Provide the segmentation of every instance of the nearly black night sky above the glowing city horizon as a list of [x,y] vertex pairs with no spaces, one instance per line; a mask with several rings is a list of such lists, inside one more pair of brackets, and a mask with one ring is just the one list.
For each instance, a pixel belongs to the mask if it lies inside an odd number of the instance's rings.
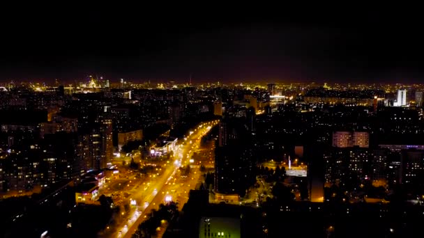
[[[165,3],[163,3],[165,4]],[[420,82],[419,9],[3,9],[0,81]]]

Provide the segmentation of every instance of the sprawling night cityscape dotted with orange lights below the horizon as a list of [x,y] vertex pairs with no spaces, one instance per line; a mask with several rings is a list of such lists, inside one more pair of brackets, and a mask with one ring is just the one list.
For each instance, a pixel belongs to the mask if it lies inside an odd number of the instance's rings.
[[[200,237],[280,235],[289,214],[322,219],[293,221],[299,237],[348,236],[349,221],[402,237],[398,228],[414,224],[388,219],[424,217],[424,85],[106,78],[1,84],[1,203],[33,207],[8,207],[11,237],[28,237],[17,228],[33,217],[40,224],[28,230],[45,230],[43,216],[76,237],[123,238],[147,234],[151,221],[151,235],[190,228],[198,214]],[[245,228],[249,211],[257,225]],[[91,224],[99,214],[103,227]]]

